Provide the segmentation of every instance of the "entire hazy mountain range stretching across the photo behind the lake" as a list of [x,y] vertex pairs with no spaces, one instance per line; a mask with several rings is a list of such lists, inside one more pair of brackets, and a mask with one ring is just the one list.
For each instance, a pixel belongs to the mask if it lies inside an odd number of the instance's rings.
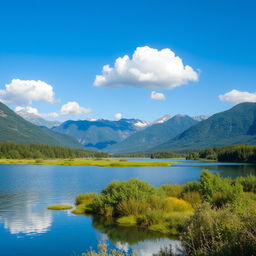
[[118,121],[68,120],[60,124],[31,114],[18,114],[0,103],[0,141],[111,153],[256,144],[256,103],[241,103],[209,118],[165,115],[154,122],[123,118]]

